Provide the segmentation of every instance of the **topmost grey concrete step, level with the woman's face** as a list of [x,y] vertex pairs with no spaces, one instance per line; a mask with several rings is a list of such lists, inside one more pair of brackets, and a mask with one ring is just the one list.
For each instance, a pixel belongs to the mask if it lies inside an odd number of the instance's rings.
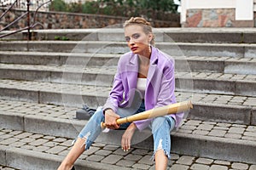
[[[117,26],[116,26],[117,27]],[[61,29],[61,30],[34,30],[35,38],[39,40],[55,40],[56,37],[65,37],[72,41],[82,39],[100,41],[124,41],[124,30],[109,26],[102,29]],[[120,27],[120,26],[119,26]],[[157,41],[166,42],[213,42],[213,43],[255,43],[253,28],[154,28]],[[1,34],[9,31],[3,31]],[[26,39],[26,31],[20,32],[5,39]]]

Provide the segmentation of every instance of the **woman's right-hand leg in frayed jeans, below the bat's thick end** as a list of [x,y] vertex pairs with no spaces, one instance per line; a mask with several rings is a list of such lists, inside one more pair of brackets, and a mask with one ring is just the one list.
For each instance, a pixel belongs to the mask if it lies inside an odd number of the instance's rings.
[[152,134],[154,138],[155,169],[166,169],[171,152],[171,135],[175,121],[171,116],[160,116],[152,122]]

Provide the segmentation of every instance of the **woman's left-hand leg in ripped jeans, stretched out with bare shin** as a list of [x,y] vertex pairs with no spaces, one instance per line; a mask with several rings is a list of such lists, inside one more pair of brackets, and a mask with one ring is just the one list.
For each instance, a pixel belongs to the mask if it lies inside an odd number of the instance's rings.
[[76,140],[66,158],[61,162],[61,166],[58,170],[69,170],[73,167],[74,162],[79,158],[84,150],[88,150],[90,148],[90,145],[102,132],[101,122],[104,122],[104,116],[102,109],[98,109],[95,114],[90,117],[90,120],[79,133],[79,138]]

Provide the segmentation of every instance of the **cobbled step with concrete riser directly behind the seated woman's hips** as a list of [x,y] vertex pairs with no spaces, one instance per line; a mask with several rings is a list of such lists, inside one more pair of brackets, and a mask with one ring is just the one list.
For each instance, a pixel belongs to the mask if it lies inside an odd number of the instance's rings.
[[[110,87],[98,86],[1,80],[0,98],[79,108],[87,104],[91,108],[97,108],[99,105],[104,105],[110,89]],[[194,109],[189,112],[189,118],[246,125],[256,124],[255,97],[178,91],[176,95],[177,101],[192,100],[194,103]]]

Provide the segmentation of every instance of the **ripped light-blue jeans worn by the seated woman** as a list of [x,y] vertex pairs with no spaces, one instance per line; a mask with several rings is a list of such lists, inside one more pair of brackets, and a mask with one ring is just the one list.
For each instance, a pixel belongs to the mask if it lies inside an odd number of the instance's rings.
[[[140,105],[137,111],[133,111],[133,114],[145,111],[144,102]],[[131,116],[132,109],[119,108],[117,111],[120,117]],[[85,150],[90,148],[90,145],[96,140],[96,138],[102,133],[101,122],[105,121],[102,108],[99,107],[90,120],[84,126],[79,133],[79,138],[84,139]],[[130,123],[120,125],[120,129],[126,129]],[[175,126],[175,121],[171,116],[160,116],[152,119],[150,124],[151,132],[154,138],[154,154],[157,150],[164,150],[166,156],[170,159],[171,155],[171,131]]]

